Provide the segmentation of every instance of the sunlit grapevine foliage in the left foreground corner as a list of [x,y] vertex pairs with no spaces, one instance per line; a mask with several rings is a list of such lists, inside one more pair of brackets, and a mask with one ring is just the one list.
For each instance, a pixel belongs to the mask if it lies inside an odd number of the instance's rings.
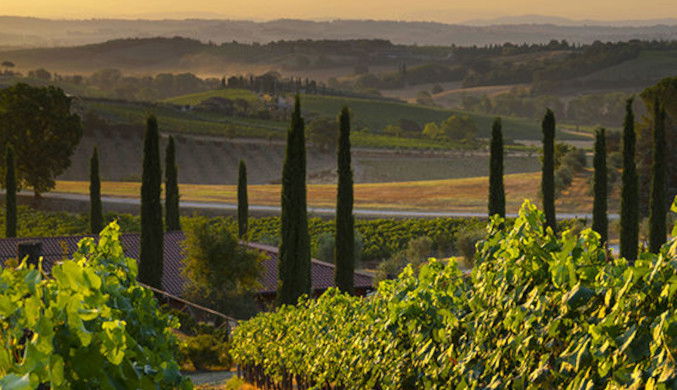
[[119,227],[72,260],[0,271],[0,388],[189,389],[175,361],[178,321],[136,281]]

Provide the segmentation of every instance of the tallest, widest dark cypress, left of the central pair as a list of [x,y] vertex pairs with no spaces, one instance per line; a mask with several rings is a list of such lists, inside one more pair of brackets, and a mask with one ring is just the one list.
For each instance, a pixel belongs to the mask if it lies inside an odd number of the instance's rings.
[[278,304],[295,304],[310,294],[310,236],[306,199],[306,146],[301,103],[296,96],[282,169],[282,242]]

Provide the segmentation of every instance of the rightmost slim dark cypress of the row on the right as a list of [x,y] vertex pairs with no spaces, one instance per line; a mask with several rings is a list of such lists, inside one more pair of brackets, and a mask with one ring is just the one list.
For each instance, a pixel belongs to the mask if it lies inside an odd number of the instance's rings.
[[658,99],[654,101],[653,165],[651,166],[651,200],[649,204],[649,250],[658,253],[665,244],[667,195],[665,109]]

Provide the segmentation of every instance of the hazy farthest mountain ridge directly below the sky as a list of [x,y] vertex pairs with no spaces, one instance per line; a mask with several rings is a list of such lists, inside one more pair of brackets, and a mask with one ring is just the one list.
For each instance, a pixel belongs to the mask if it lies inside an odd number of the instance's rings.
[[[543,23],[534,23],[539,21]],[[397,44],[443,46],[505,42],[546,43],[551,39],[566,39],[576,43],[591,43],[595,40],[677,39],[677,19],[661,19],[656,22],[660,24],[633,26],[632,21],[627,21],[613,22],[618,26],[597,25],[603,22],[595,22],[595,25],[578,25],[588,23],[540,16],[474,21],[475,25],[377,20],[280,19],[267,22],[219,19],[51,20],[0,16],[0,47],[74,46],[121,38],[174,36],[216,43],[231,41],[266,43],[297,39],[386,39]],[[484,25],[487,23],[491,25]],[[626,23],[630,25],[621,26]]]

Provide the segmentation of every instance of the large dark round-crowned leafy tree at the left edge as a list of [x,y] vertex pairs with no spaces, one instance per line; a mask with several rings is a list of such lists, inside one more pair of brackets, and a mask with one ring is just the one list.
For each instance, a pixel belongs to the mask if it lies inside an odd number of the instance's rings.
[[61,89],[20,83],[0,90],[0,145],[14,146],[19,187],[36,196],[54,188],[81,137],[80,117]]

